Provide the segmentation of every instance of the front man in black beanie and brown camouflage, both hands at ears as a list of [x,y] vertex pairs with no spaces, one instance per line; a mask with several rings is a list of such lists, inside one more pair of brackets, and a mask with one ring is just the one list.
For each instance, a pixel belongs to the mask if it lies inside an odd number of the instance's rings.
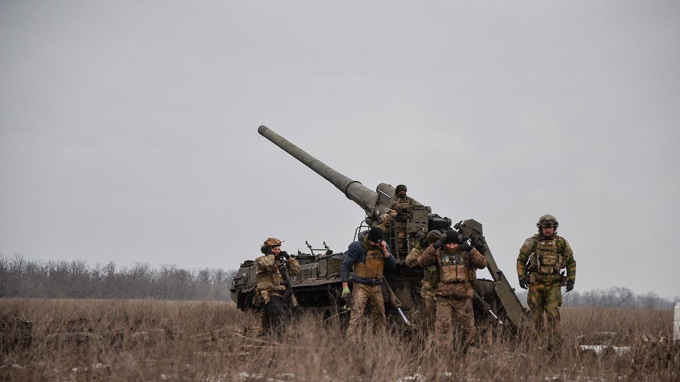
[[[450,230],[442,241],[430,245],[420,254],[418,264],[422,267],[434,265],[439,270],[439,284],[434,289],[434,332],[438,340],[443,346],[454,345],[467,351],[475,335],[472,282],[477,279],[477,269],[488,265],[486,257],[468,243],[461,242],[457,231]],[[454,320],[461,331],[456,344],[452,344]]]

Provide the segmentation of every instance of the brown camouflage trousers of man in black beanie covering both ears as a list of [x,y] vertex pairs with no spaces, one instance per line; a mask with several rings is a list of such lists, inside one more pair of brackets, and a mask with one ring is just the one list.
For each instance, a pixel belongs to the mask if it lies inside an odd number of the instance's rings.
[[434,333],[439,346],[466,349],[475,336],[473,299],[436,296]]

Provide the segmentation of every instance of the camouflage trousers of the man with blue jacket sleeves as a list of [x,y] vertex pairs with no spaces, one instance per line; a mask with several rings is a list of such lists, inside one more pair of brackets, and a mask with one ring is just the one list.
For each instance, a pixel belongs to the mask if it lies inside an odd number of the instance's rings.
[[362,331],[362,318],[364,317],[367,302],[368,306],[371,306],[373,332],[386,332],[385,305],[380,284],[353,283],[351,299],[352,311],[350,313],[350,326],[347,328],[347,338],[359,340]]

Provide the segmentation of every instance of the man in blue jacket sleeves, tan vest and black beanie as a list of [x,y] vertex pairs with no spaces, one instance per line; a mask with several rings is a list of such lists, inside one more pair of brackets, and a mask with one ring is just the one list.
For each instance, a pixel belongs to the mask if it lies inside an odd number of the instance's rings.
[[373,227],[364,236],[363,241],[350,244],[347,255],[340,266],[342,281],[342,297],[350,297],[350,270],[352,271],[352,299],[350,312],[350,326],[347,338],[357,340],[359,336],[359,322],[364,315],[366,302],[371,306],[373,315],[373,331],[386,331],[385,305],[382,298],[382,272],[384,268],[393,269],[397,265],[396,259],[389,251],[389,246],[383,240],[382,229]]

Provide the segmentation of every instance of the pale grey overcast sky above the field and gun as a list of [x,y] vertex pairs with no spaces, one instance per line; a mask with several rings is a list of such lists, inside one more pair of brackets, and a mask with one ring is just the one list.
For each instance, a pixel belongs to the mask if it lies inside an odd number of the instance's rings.
[[576,290],[680,295],[678,1],[2,1],[0,253],[238,268],[364,211],[257,133]]

